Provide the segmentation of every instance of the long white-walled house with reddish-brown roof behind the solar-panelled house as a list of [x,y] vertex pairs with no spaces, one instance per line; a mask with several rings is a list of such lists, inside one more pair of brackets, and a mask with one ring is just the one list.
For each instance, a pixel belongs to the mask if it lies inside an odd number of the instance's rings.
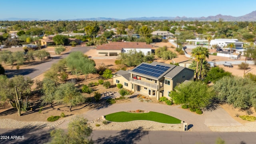
[[144,55],[151,54],[152,45],[146,42],[110,42],[96,48],[99,56],[118,56],[121,53],[128,53],[131,50],[142,52]]

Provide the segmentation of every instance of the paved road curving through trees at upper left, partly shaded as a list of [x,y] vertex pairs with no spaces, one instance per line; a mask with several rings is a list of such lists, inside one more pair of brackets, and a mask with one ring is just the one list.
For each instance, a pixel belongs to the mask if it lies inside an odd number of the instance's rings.
[[[80,52],[85,53],[85,52],[89,51],[90,49],[93,49],[93,47],[89,47],[89,46],[75,47],[75,48],[72,48],[70,50],[70,52],[80,51]],[[42,74],[46,70],[49,70],[50,67],[52,66],[52,64],[58,62],[62,58],[66,58],[70,52],[68,52],[66,54],[62,54],[60,56],[54,56],[52,58],[52,60],[47,61],[47,62],[42,62],[41,64],[38,64],[34,68],[19,70],[19,72],[17,72],[17,70],[7,70],[6,74],[8,75],[9,78],[13,77],[14,75],[23,75],[23,76],[28,76],[30,78],[34,78],[34,77]]]

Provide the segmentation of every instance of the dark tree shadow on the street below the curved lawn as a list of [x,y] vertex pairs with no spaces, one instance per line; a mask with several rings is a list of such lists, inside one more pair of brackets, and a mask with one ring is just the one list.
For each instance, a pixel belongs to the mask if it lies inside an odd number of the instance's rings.
[[108,138],[98,138],[94,140],[95,144],[136,144],[143,136],[148,135],[148,131],[143,130],[142,127],[134,130],[121,130],[115,136]]

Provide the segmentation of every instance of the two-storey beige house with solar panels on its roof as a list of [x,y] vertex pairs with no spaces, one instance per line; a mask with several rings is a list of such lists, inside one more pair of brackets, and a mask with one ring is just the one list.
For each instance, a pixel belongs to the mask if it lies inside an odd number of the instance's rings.
[[172,64],[142,62],[132,70],[119,70],[113,77],[114,84],[150,98],[169,97],[175,86],[193,80],[194,70]]

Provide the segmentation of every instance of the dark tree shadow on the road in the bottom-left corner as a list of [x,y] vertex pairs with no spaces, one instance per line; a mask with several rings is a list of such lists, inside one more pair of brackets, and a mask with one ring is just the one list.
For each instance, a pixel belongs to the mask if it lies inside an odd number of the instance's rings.
[[[1,136],[8,139],[2,139],[2,144],[44,144],[50,140],[51,129],[43,128],[41,126],[26,126],[24,128],[12,129],[7,132],[1,133]],[[2,131],[0,129],[0,131]],[[15,137],[14,137],[15,136]]]

